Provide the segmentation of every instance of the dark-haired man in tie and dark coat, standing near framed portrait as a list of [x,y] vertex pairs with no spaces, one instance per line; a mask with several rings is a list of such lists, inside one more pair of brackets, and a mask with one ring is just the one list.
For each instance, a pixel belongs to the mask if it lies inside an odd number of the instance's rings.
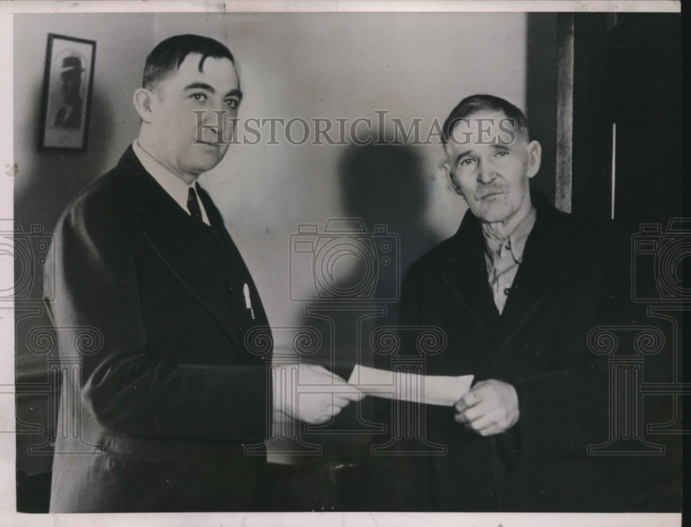
[[[62,404],[73,406],[59,423],[52,512],[265,508],[261,445],[273,412],[316,423],[357,399],[317,395],[299,410],[273,401],[283,389],[272,390],[270,356],[247,349],[247,332],[267,318],[196,183],[227,152],[225,124],[242,97],[223,44],[162,41],[134,94],[138,139],[59,219],[46,291],[55,289],[61,357],[73,360],[84,327],[102,345],[82,355],[81,379],[63,379]],[[343,382],[315,366],[299,374]]]

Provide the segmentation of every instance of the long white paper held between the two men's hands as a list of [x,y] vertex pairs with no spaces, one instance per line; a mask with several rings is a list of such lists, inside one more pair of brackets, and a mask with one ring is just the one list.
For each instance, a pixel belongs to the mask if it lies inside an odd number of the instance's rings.
[[355,365],[348,384],[363,394],[439,406],[453,406],[468,392],[473,375],[419,375]]

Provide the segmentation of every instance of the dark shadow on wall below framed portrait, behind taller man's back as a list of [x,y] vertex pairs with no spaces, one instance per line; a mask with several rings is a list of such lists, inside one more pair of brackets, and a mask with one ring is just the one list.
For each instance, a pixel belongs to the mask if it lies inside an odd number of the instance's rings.
[[[50,498],[50,470],[52,445],[55,439],[50,419],[51,400],[57,401],[59,385],[52,385],[49,375],[50,356],[54,353],[37,348],[29,343],[29,334],[37,327],[50,327],[50,319],[41,301],[44,266],[40,265],[41,245],[44,238],[50,240],[59,215],[67,204],[100,175],[108,162],[108,136],[113,126],[113,113],[108,99],[98,86],[94,86],[93,104],[89,126],[87,153],[69,151],[39,151],[37,137],[39,128],[40,86],[32,93],[35,111],[26,115],[27,133],[33,142],[33,150],[24,145],[21,151],[32,153],[32,159],[19,160],[18,178],[28,181],[15,186],[15,219],[19,221],[32,249],[31,260],[21,265],[21,258],[15,258],[15,285],[28,284],[22,288],[26,294],[17,297],[15,303],[15,371],[17,394],[17,510],[19,512],[48,512]],[[21,137],[21,135],[20,135]],[[112,148],[112,146],[111,146]],[[15,151],[19,148],[15,145]],[[26,165],[24,168],[21,165]],[[32,234],[32,227],[42,229],[41,240]],[[46,244],[47,249],[47,244]],[[44,251],[45,252],[45,251]],[[49,387],[45,390],[26,390],[21,385]],[[48,388],[46,388],[48,389]],[[19,425],[21,423],[21,426]],[[38,427],[38,428],[37,428]],[[26,433],[21,433],[26,430]],[[36,433],[35,430],[41,430]],[[29,433],[31,431],[32,433]],[[39,448],[40,454],[30,454],[30,449]]]

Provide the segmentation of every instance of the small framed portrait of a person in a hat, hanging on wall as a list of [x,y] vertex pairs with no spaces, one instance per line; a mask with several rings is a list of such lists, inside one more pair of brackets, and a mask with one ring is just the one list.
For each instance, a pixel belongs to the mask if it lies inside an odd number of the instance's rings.
[[86,151],[96,42],[48,34],[39,148]]

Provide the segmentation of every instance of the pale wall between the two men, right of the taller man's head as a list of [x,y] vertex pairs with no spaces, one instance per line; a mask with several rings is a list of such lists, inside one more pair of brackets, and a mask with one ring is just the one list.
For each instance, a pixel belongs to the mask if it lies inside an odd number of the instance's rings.
[[[180,30],[223,35],[210,15],[159,17],[156,38]],[[408,125],[441,122],[472,93],[525,103],[526,15],[229,15],[227,41],[245,99],[240,117],[348,118],[388,111]],[[491,68],[487,64],[492,64]],[[391,126],[387,120],[387,131]],[[301,128],[296,126],[295,135]],[[207,186],[225,214],[272,325],[292,325],[290,235],[300,223],[357,216],[401,235],[402,268],[458,227],[440,146],[231,146]],[[357,181],[358,184],[353,184]],[[404,230],[405,228],[405,230]],[[346,270],[343,269],[345,274]],[[311,269],[294,270],[307,284]],[[306,287],[306,286],[305,286]]]

